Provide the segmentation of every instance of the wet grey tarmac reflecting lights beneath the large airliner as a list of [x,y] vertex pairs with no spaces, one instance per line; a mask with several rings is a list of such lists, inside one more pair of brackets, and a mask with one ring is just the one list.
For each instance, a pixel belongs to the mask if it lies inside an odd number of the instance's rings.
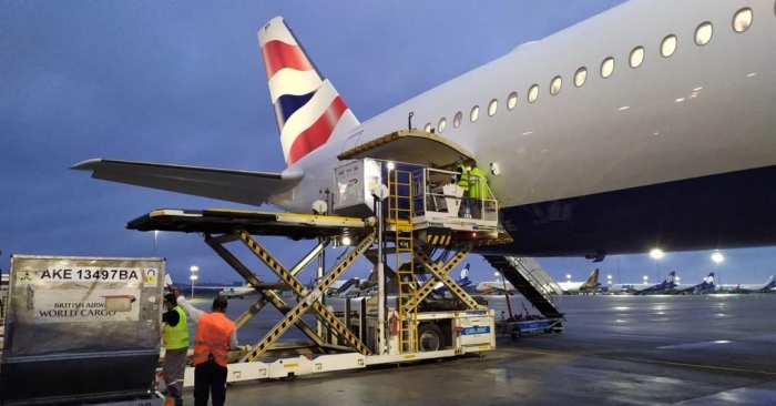
[[[508,316],[502,296],[488,301]],[[522,308],[521,296],[510,302]],[[228,314],[251,303],[232,300]],[[229,384],[226,404],[776,405],[774,294],[564,296],[560,307],[561,334],[499,336],[481,356]],[[264,327],[251,328],[241,344],[261,338]]]

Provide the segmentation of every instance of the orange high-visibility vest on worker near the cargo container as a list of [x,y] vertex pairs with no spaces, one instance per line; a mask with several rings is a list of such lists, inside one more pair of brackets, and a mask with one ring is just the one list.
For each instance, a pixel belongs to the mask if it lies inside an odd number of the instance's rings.
[[206,362],[212,354],[216,364],[226,367],[229,336],[234,328],[234,323],[223,313],[202,314],[194,336],[194,365]]

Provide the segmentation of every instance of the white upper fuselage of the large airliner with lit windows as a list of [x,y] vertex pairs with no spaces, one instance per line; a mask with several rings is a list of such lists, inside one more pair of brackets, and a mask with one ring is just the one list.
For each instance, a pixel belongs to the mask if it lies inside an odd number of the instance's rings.
[[[755,13],[752,27],[734,32],[742,7]],[[709,43],[694,42],[696,27],[713,23]],[[661,41],[677,37],[677,49],[661,55]],[[503,207],[591,195],[675,180],[776,164],[776,74],[773,2],[634,0],[524,47],[422,93],[339,136],[289,170],[305,179],[269,202],[307,212],[319,190],[333,184],[336,155],[402,129],[427,123],[469,150],[500,174],[490,185]],[[629,65],[636,47],[645,50]],[[601,65],[614,58],[604,79]],[[582,87],[574,72],[588,69]],[[550,94],[559,75],[562,87]],[[529,89],[538,99],[529,103]],[[518,93],[508,109],[508,95]],[[488,114],[491,100],[498,108]],[[479,118],[470,121],[478,105]],[[462,113],[459,128],[453,116]],[[440,119],[447,126],[439,131]]]

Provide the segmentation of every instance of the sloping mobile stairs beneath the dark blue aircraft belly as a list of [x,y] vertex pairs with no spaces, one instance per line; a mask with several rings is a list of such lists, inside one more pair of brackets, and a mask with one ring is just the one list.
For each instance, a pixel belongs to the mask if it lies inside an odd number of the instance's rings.
[[553,293],[560,297],[561,287],[539,263],[530,257],[484,255],[484,258],[525,297],[533,307],[549,318],[563,317]]

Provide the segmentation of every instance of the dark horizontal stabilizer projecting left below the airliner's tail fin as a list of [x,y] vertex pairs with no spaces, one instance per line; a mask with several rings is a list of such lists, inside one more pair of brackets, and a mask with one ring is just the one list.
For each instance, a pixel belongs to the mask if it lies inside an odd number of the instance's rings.
[[252,205],[294,187],[304,176],[300,171],[252,172],[102,159],[71,169],[92,171],[94,179]]

